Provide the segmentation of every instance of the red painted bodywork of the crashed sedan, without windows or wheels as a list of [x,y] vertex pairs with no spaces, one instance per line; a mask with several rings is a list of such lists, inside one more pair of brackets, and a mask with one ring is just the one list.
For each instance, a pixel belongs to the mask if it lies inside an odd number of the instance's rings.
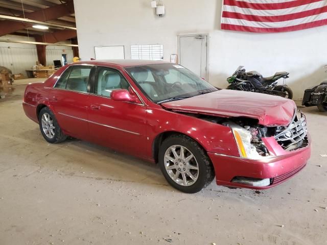
[[[293,176],[310,157],[309,145],[287,152],[271,138],[263,138],[272,157],[263,160],[241,158],[229,127],[178,112],[192,112],[221,117],[251,117],[264,126],[290,124],[296,106],[281,97],[250,92],[219,90],[189,99],[158,105],[148,100],[124,67],[158,64],[149,61],[78,62],[60,68],[44,83],[27,86],[23,108],[38,122],[40,106],[48,106],[67,135],[95,142],[109,148],[155,162],[154,146],[160,135],[176,132],[196,140],[211,158],[219,185],[249,186],[232,183],[232,178],[275,178],[269,188]],[[137,95],[137,103],[114,101],[92,93],[54,88],[62,72],[71,65],[105,66],[119,70]],[[258,106],[260,100],[260,106]],[[141,102],[141,103],[139,103]]]

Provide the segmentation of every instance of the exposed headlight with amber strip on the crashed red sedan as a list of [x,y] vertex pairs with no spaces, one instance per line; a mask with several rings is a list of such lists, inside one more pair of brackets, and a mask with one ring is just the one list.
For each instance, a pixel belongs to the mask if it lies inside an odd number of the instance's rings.
[[249,159],[262,159],[256,151],[255,146],[251,144],[252,135],[249,131],[242,128],[231,128],[237,146],[239,148],[240,156]]

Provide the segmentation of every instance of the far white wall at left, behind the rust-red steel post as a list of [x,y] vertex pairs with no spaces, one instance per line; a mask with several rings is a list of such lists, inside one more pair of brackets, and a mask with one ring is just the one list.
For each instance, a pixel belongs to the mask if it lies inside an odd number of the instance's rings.
[[[33,37],[6,35],[0,39],[35,41]],[[61,44],[70,44],[70,41],[58,42]],[[57,43],[57,44],[58,44]],[[64,50],[64,51],[63,51]],[[61,55],[67,54],[68,63],[73,62],[73,49],[70,46],[48,45],[45,49],[46,64],[53,65],[54,60],[61,60]],[[13,72],[13,74],[26,74],[26,70],[32,69],[36,64],[37,52],[35,44],[0,42],[0,66],[5,66]]]

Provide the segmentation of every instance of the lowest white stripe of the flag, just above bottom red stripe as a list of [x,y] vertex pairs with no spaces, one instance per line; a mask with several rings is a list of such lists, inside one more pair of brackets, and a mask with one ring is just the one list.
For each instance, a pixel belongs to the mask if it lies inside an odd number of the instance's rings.
[[247,27],[258,27],[258,28],[283,28],[283,27],[291,27],[296,26],[302,23],[310,23],[317,20],[327,19],[327,13],[322,13],[318,15],[311,15],[308,17],[293,19],[281,22],[257,22],[257,21],[249,21],[244,19],[232,19],[232,18],[222,18],[222,23],[226,24],[236,24]]

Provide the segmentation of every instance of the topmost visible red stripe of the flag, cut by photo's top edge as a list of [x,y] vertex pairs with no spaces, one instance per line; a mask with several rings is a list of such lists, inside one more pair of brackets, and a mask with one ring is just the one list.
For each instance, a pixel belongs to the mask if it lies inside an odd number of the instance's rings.
[[324,0],[295,0],[285,3],[272,3],[272,4],[257,4],[257,3],[249,3],[244,1],[236,1],[236,0],[224,0],[224,5],[229,6],[237,6],[240,8],[248,8],[255,10],[273,10],[273,9],[288,9],[299,7],[306,4],[322,2]]

